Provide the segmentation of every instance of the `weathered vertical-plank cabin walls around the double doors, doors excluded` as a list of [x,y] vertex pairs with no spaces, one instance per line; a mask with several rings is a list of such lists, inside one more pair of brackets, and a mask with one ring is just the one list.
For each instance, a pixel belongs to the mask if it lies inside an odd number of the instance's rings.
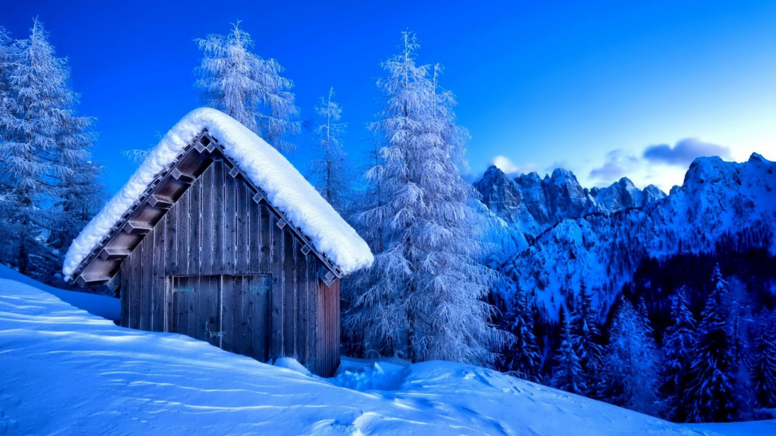
[[[251,197],[223,161],[213,161],[122,262],[121,325],[171,331],[171,276],[270,274],[271,358],[293,357],[312,372],[330,375],[339,362],[339,285],[320,288],[320,261],[302,254],[288,228],[280,229],[274,213]],[[224,321],[241,322],[231,317],[222,313]],[[317,359],[322,347],[325,369]]]

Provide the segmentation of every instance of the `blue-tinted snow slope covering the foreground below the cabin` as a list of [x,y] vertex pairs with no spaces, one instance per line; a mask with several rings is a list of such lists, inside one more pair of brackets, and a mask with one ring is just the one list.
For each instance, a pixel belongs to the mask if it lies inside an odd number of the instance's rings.
[[348,359],[333,379],[319,379],[178,334],[117,327],[9,279],[0,279],[0,356],[0,434],[710,436],[774,428],[670,424],[449,362]]

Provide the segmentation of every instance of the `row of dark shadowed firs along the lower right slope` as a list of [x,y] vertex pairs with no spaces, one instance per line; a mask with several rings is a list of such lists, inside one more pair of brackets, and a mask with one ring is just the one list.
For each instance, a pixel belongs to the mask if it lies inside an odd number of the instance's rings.
[[708,282],[712,290],[697,319],[691,290],[675,293],[662,347],[645,300],[634,305],[625,296],[605,341],[583,282],[575,309],[561,313],[549,372],[542,369],[527,292],[516,289],[504,324],[516,341],[504,348],[501,369],[677,422],[751,420],[757,409],[776,407],[776,312],[752,316],[719,265]]

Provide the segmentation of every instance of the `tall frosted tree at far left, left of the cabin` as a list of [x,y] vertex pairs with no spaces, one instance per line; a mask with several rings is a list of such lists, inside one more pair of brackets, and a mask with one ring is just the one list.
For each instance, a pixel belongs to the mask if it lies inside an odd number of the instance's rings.
[[0,112],[3,257],[19,272],[50,281],[64,248],[99,204],[99,167],[88,153],[93,119],[75,115],[70,71],[38,20],[8,59]]

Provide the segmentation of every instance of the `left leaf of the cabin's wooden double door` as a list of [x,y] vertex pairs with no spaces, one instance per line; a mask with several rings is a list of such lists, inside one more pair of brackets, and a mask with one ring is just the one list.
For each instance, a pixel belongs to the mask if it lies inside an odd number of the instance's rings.
[[172,276],[170,331],[220,346],[219,275]]

